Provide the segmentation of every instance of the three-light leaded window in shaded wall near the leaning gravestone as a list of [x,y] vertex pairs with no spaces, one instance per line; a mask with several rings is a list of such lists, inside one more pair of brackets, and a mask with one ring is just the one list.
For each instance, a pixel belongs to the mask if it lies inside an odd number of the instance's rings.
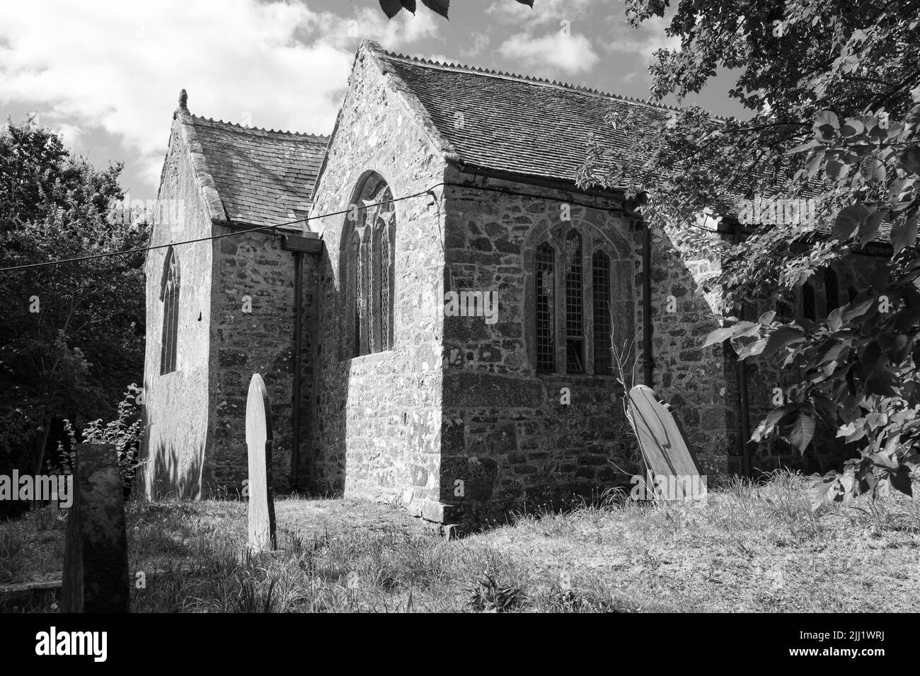
[[620,256],[606,236],[575,228],[536,246],[537,372],[613,375],[613,344],[632,349],[634,263]]

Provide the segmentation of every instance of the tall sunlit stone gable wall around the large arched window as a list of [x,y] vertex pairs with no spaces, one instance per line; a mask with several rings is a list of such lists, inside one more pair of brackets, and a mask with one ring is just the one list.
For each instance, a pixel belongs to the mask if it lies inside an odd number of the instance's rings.
[[[367,172],[394,197],[443,181],[443,157],[418,111],[367,51],[359,52],[339,113],[313,213],[347,210]],[[401,502],[442,521],[441,450],[443,205],[422,195],[397,201],[393,349],[340,359],[344,297],[339,249],[345,215],[311,224],[326,244],[319,271],[319,358],[312,487]]]

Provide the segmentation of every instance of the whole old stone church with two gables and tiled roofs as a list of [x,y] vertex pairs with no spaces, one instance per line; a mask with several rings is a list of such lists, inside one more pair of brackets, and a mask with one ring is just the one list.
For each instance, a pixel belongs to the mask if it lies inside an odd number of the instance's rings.
[[[371,41],[328,137],[198,117],[183,92],[158,194],[178,218],[146,260],[147,496],[237,494],[256,372],[280,492],[440,523],[599,496],[640,467],[612,344],[704,473],[785,462],[742,443],[756,378],[701,348],[719,258],[575,185],[589,133],[623,147],[603,120],[629,111],[673,109]],[[847,275],[799,310],[845,302]]]

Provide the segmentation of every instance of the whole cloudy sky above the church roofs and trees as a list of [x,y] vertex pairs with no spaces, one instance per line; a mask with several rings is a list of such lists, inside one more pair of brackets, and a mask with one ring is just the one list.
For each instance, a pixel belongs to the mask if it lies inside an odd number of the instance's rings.
[[[328,133],[362,38],[632,97],[648,97],[651,53],[676,46],[662,21],[630,29],[622,0],[454,0],[449,22],[421,3],[387,21],[376,0],[5,3],[0,119],[37,112],[96,165],[123,161],[132,199],[155,196],[183,87],[197,115]],[[738,114],[729,86],[687,102]]]

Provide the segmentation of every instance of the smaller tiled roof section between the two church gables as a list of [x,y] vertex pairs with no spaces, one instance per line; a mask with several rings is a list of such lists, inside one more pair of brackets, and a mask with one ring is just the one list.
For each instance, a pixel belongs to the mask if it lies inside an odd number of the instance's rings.
[[241,127],[197,115],[187,119],[230,220],[274,225],[309,210],[328,136]]

